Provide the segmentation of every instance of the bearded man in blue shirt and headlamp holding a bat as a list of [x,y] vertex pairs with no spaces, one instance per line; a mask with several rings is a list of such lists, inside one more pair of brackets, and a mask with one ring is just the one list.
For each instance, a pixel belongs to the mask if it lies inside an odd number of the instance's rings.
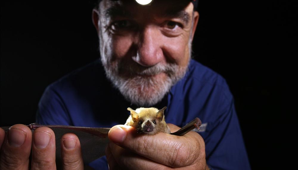
[[[106,157],[89,164],[94,169],[250,169],[226,81],[191,59],[196,6],[190,0],[155,0],[150,5],[100,1],[92,13],[100,59],[49,85],[38,105],[37,122],[113,126]],[[202,120],[201,130],[182,137],[136,137],[134,128],[121,125],[130,114],[128,107],[164,106],[171,132],[195,117]],[[23,125],[10,129],[1,169],[28,167],[30,133]],[[32,168],[56,167],[53,136],[49,128],[35,130]],[[77,136],[67,134],[62,141],[63,168],[83,169]]]

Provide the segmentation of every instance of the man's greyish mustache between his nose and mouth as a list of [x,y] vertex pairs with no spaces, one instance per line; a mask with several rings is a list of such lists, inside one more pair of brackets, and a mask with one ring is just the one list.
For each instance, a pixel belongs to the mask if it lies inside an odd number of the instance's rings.
[[177,64],[172,63],[158,63],[154,66],[145,67],[134,61],[120,61],[118,63],[118,72],[129,75],[156,75],[160,72],[170,74],[175,73],[178,67]]

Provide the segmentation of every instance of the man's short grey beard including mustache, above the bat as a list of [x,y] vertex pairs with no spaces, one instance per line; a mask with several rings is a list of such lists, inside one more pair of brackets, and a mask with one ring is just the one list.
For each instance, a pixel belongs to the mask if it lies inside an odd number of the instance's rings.
[[[114,61],[108,64],[102,59],[107,78],[126,100],[138,106],[152,106],[162,100],[171,87],[184,77],[187,66],[156,64],[143,67],[134,61]],[[153,75],[165,73],[165,78]]]

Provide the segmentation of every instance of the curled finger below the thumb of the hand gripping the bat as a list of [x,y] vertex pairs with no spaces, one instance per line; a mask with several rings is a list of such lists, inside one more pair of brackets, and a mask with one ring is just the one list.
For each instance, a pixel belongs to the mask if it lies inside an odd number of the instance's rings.
[[[120,146],[110,143],[109,144],[110,155],[107,157],[109,165],[114,168],[114,164],[121,169],[167,169],[169,167],[160,163],[154,162],[148,158],[142,157],[138,154],[130,152]],[[117,169],[117,168],[116,168]]]

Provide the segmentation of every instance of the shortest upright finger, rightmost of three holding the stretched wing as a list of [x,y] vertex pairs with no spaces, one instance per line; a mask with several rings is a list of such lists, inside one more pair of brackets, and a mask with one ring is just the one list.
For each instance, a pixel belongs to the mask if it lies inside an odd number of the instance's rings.
[[75,134],[61,137],[61,156],[63,169],[84,169],[80,140]]

